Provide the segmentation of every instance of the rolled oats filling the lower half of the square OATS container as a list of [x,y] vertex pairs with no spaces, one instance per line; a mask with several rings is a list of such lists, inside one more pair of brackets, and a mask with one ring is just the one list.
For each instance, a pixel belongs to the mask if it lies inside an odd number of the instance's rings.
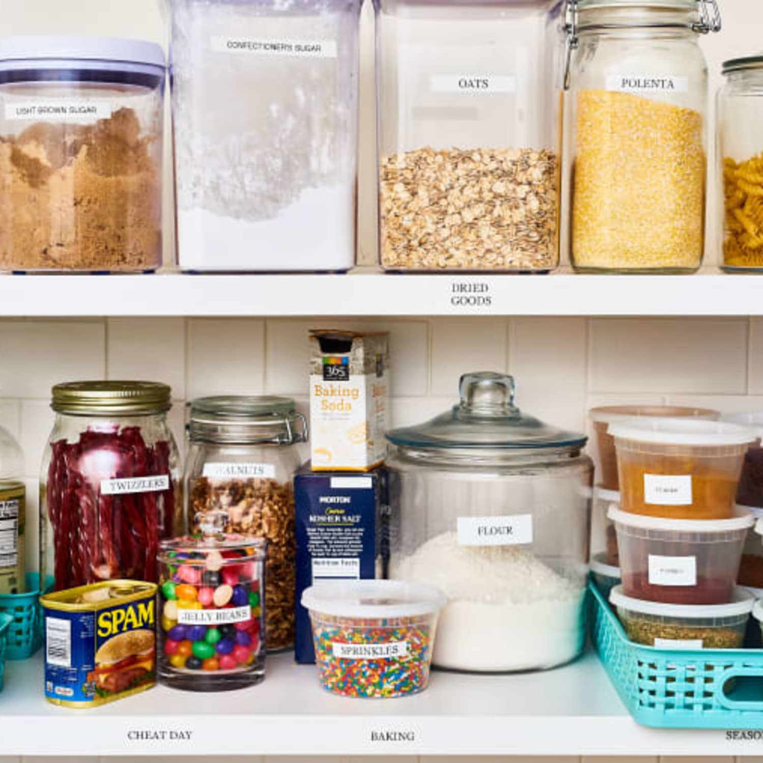
[[533,271],[559,262],[559,159],[551,151],[385,155],[379,201],[386,268]]

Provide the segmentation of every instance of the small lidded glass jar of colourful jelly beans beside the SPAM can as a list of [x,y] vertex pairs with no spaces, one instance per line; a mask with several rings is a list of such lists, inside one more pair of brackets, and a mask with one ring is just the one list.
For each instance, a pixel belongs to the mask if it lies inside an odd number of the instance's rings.
[[168,686],[227,691],[265,678],[266,542],[222,533],[226,521],[208,517],[201,536],[162,543],[159,681]]

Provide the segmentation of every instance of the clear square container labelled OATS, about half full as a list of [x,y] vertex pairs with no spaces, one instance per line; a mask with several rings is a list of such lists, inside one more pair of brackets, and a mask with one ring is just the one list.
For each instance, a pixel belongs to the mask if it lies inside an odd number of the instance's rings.
[[561,8],[375,0],[385,269],[559,264]]

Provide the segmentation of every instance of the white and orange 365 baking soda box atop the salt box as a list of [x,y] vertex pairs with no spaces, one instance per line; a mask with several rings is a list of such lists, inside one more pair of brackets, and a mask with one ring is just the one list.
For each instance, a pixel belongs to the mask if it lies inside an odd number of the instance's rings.
[[310,342],[312,468],[369,471],[385,458],[389,335],[318,330]]

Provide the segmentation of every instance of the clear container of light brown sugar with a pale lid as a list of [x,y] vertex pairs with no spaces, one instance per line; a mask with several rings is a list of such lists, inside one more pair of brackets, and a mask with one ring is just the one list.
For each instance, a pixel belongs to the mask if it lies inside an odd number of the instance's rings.
[[0,39],[0,270],[161,266],[165,71],[141,40]]

